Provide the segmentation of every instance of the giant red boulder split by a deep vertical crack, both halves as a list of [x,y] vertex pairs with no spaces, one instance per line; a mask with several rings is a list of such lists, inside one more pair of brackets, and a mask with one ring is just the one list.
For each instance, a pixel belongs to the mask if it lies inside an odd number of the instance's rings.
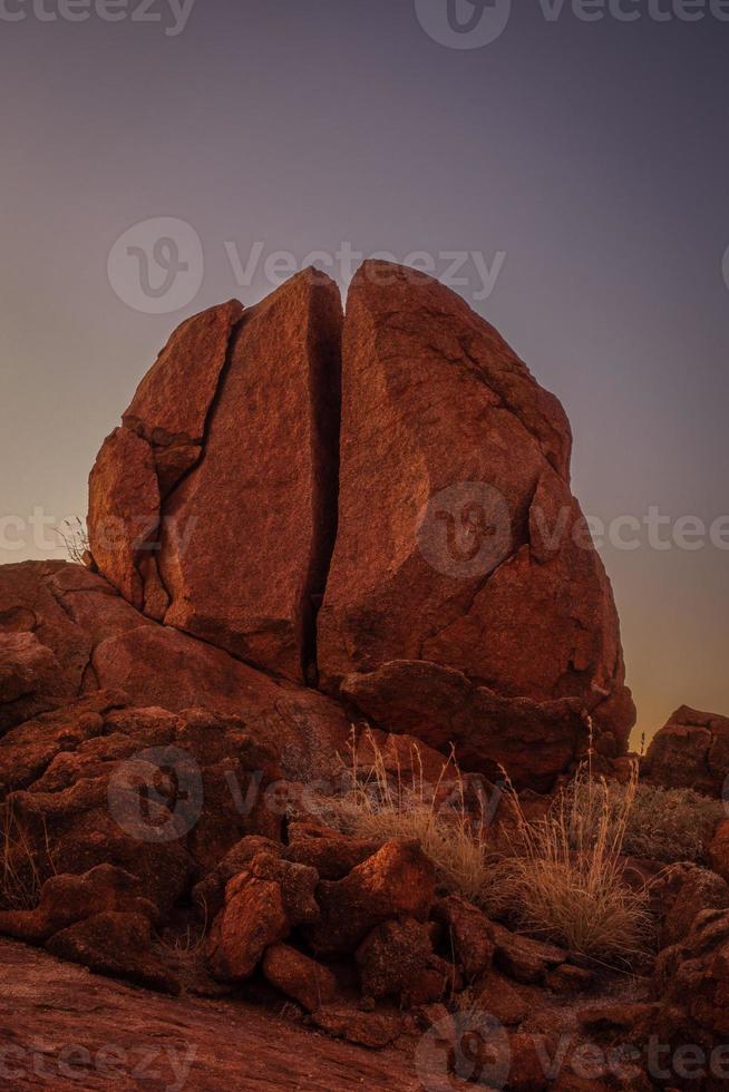
[[235,674],[319,686],[519,786],[566,772],[590,718],[605,759],[625,752],[634,708],[564,410],[438,282],[368,262],[343,325],[313,270],[213,308],[123,421],[91,474],[91,552],[165,630],[96,647],[105,685],[138,671],[152,699],[174,627]]

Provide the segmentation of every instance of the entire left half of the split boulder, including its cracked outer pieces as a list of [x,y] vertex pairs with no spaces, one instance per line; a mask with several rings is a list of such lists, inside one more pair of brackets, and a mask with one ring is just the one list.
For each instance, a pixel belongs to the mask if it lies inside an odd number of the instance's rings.
[[188,319],[89,479],[90,549],[125,598],[294,682],[337,529],[341,329],[315,270]]

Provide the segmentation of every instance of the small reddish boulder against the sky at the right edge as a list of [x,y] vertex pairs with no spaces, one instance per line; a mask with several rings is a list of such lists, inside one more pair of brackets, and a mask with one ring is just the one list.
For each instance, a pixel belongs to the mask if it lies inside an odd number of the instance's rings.
[[653,737],[641,776],[667,789],[720,798],[729,777],[729,718],[682,705]]

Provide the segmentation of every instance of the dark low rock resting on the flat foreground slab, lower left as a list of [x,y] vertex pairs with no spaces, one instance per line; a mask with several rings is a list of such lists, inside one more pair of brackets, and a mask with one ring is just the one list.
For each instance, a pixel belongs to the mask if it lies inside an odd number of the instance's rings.
[[179,983],[152,952],[149,920],[143,915],[96,914],[57,933],[46,947],[99,974],[129,978],[162,993],[179,993]]

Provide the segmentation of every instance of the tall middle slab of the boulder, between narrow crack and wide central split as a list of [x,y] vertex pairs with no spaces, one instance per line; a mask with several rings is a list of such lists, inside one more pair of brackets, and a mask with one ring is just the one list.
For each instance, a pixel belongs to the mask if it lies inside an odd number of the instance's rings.
[[307,271],[247,311],[204,455],[165,505],[165,621],[302,681],[336,526],[341,301]]

